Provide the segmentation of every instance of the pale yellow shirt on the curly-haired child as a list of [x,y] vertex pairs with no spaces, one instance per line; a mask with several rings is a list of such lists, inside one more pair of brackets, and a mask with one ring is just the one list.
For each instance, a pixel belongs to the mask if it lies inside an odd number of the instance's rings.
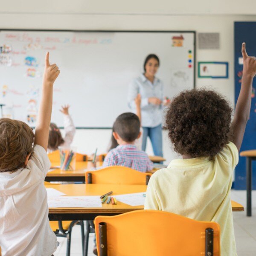
[[198,221],[215,221],[221,227],[221,256],[236,255],[230,200],[232,173],[239,154],[232,142],[214,160],[172,160],[151,176],[144,209],[173,212]]

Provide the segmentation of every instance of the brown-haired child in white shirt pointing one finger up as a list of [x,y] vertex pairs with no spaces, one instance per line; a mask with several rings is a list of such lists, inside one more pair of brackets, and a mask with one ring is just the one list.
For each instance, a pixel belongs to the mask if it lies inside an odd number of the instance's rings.
[[52,88],[59,73],[47,52],[35,135],[24,122],[0,119],[0,246],[5,256],[51,256],[57,248],[44,178],[50,167]]

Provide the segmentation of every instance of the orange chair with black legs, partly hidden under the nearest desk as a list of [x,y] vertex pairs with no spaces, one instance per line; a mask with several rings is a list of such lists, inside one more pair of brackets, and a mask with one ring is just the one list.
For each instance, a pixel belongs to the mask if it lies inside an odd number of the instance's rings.
[[[49,183],[44,181],[44,185],[54,185],[58,183]],[[56,236],[67,238],[67,250],[66,256],[70,256],[70,246],[71,246],[71,234],[72,229],[75,225],[81,226],[81,240],[82,240],[82,250],[84,251],[84,221],[50,221],[50,227]],[[1,256],[1,255],[0,255]]]

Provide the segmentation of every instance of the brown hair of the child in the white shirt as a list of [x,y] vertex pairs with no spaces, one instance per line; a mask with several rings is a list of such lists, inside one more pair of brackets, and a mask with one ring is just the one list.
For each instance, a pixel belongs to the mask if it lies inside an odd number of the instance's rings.
[[0,172],[25,167],[27,155],[33,152],[34,137],[26,123],[0,118]]

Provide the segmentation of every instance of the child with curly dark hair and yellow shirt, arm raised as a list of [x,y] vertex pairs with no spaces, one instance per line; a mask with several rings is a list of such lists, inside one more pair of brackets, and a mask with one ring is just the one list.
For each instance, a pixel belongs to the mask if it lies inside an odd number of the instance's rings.
[[231,123],[232,108],[212,90],[188,90],[172,100],[166,128],[174,150],[183,159],[151,176],[145,209],[173,212],[221,226],[221,255],[236,255],[230,200],[232,173],[250,114],[255,57],[242,44],[241,91]]

